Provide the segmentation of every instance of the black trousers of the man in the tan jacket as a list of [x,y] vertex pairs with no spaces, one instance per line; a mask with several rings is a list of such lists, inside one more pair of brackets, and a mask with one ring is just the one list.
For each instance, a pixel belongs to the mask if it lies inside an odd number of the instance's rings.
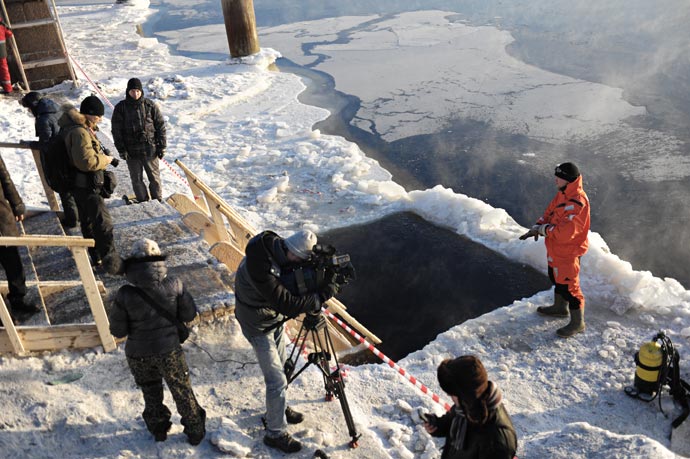
[[75,188],[72,194],[79,210],[82,236],[96,241],[95,250],[89,249],[91,259],[96,262],[114,254],[113,220],[101,195],[88,188]]

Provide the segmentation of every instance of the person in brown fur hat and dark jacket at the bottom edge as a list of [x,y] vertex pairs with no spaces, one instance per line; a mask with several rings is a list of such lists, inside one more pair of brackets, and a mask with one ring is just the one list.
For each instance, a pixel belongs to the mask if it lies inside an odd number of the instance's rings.
[[473,355],[446,359],[437,376],[454,405],[441,417],[422,414],[422,419],[429,434],[446,437],[441,459],[513,459],[517,434],[481,360]]

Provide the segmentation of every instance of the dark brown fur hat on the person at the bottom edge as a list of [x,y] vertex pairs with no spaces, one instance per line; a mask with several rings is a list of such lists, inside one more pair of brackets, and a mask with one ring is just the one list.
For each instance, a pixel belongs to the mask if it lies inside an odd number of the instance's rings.
[[472,402],[489,387],[489,377],[482,362],[473,355],[446,359],[438,366],[438,382],[449,395]]

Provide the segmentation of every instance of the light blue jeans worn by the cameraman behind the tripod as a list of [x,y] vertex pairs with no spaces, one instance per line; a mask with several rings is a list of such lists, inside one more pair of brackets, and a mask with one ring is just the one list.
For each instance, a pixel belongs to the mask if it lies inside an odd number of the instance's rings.
[[269,437],[277,437],[287,431],[285,409],[287,378],[285,377],[285,334],[283,326],[266,335],[247,337],[254,348],[259,367],[266,383],[266,429]]

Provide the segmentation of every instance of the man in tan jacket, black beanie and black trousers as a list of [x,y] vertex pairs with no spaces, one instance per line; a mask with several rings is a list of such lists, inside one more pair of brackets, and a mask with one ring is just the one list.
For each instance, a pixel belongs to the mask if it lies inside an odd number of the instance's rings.
[[96,247],[89,248],[91,263],[93,266],[103,264],[107,272],[117,274],[122,269],[122,259],[115,250],[113,221],[102,196],[104,171],[110,164],[116,166],[117,159],[104,151],[96,137],[104,113],[103,103],[91,95],[84,98],[79,110],[67,107],[58,124],[74,167],[72,193],[79,212],[81,234],[96,241]]

